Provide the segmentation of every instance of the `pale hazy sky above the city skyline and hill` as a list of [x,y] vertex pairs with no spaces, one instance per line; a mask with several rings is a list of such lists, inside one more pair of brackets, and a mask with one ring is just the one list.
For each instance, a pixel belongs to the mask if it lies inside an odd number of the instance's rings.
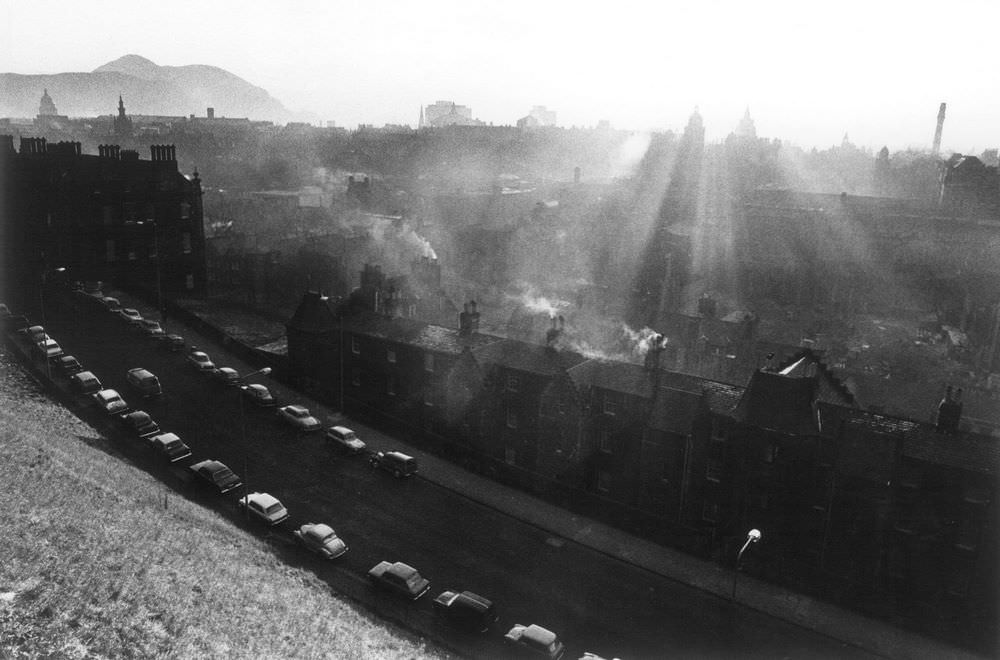
[[[90,71],[127,53],[212,64],[292,110],[416,124],[438,99],[512,124],[680,129],[802,146],[1000,145],[1000,0],[0,0],[0,72]],[[199,109],[200,110],[200,109]],[[192,112],[195,112],[192,109]],[[224,114],[224,109],[218,111]]]

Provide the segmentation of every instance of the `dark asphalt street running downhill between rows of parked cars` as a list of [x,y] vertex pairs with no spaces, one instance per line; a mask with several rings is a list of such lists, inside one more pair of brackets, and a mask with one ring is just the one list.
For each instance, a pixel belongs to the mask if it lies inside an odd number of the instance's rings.
[[[156,318],[149,307],[139,309],[145,317]],[[553,539],[535,526],[436,485],[426,472],[397,480],[372,471],[363,455],[337,453],[322,432],[296,433],[276,419],[273,409],[246,405],[244,442],[239,390],[196,372],[185,360],[186,349],[159,348],[79,294],[47,295],[45,317],[46,329],[67,354],[97,374],[105,387],[117,389],[133,409],[150,413],[163,431],[177,433],[194,452],[192,460],[223,461],[243,477],[250,492],[279,498],[291,519],[275,530],[242,522],[236,507],[242,489],[223,497],[200,494],[180,478],[182,470],[157,460],[144,441],[127,438],[116,426],[112,430],[100,411],[88,405],[85,419],[116,433],[113,437],[120,437],[118,444],[130,459],[230,519],[270,534],[286,561],[311,567],[334,591],[463,656],[506,656],[503,633],[514,623],[537,623],[560,636],[567,658],[585,651],[609,658],[871,657],[570,540]],[[168,319],[165,325],[168,332],[183,335],[188,348],[194,344],[207,352],[217,367],[233,367],[241,374],[255,370],[176,322]],[[125,374],[133,367],[156,374],[164,394],[144,401],[132,393]],[[65,384],[65,378],[57,380]],[[371,450],[398,446],[392,438],[341,419],[273,379],[256,376],[251,381],[267,385],[279,405],[305,405],[324,426],[350,426]],[[331,525],[350,547],[348,553],[324,562],[294,545],[291,530],[305,522]],[[431,581],[430,594],[413,603],[373,589],[366,572],[381,560],[417,568]],[[500,613],[497,626],[484,636],[473,636],[436,622],[431,600],[445,589],[491,599]]]

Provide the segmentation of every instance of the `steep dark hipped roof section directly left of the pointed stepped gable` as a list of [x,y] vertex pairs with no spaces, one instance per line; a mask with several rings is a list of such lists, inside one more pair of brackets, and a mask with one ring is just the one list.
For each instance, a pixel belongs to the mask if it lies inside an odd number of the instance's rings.
[[813,414],[816,380],[757,371],[736,408],[747,424],[782,433],[808,435],[818,431]]

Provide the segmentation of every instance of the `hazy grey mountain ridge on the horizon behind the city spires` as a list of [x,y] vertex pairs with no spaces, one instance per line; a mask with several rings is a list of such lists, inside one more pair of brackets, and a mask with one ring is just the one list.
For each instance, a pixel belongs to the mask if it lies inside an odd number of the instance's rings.
[[139,55],[125,55],[90,73],[0,73],[0,117],[34,117],[46,89],[59,114],[70,117],[115,114],[121,94],[130,115],[203,117],[213,107],[217,117],[293,118],[267,90],[225,69],[160,66]]

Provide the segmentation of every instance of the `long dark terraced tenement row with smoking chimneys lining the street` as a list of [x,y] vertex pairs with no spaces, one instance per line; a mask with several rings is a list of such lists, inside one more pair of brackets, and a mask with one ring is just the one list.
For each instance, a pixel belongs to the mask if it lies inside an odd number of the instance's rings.
[[871,614],[996,626],[996,439],[860,409],[801,349],[738,386],[564,345],[416,321],[391,293],[307,293],[287,325],[291,376],[352,415],[553,502]]

